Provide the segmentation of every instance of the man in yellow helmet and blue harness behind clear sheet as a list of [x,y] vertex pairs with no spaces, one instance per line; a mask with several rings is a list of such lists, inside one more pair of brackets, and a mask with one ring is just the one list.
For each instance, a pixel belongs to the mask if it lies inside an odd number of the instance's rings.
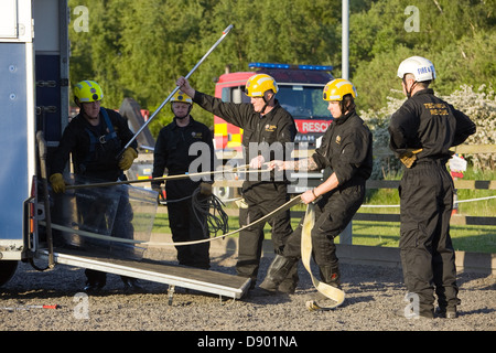
[[[101,87],[94,81],[82,81],[74,87],[75,103],[79,114],[65,128],[57,149],[51,158],[50,182],[55,193],[65,192],[64,169],[73,156],[76,183],[104,182],[123,180],[123,171],[128,170],[138,157],[137,142],[133,141],[122,153],[117,156],[132,139],[133,135],[128,122],[117,111],[100,106],[104,98]],[[95,210],[101,204],[77,200],[82,226],[98,222]],[[112,234],[119,237],[132,238],[132,210],[127,201],[120,201],[116,212]],[[99,225],[97,225],[98,227]],[[90,243],[89,240],[87,242]],[[85,290],[100,289],[106,284],[106,274],[86,269],[87,281]],[[121,277],[126,288],[138,288],[136,279]]]

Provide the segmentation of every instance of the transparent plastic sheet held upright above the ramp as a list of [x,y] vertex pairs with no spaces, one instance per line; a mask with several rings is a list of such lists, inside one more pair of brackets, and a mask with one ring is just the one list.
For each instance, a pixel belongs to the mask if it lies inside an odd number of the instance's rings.
[[[77,176],[76,184],[101,181]],[[128,184],[82,188],[55,194],[52,222],[74,232],[54,233],[55,246],[71,246],[88,254],[141,259],[157,213],[158,193]],[[106,237],[111,237],[106,238]]]

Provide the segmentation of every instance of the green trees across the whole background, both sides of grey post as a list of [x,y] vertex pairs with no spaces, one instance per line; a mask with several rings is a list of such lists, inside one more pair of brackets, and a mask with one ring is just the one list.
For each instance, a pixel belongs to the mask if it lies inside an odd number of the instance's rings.
[[[152,113],[175,88],[222,31],[234,30],[192,75],[193,86],[213,94],[216,78],[230,66],[284,62],[333,65],[341,75],[341,0],[69,0],[89,11],[88,32],[69,31],[71,82],[96,79],[105,105],[118,108],[132,97]],[[400,98],[396,72],[411,55],[431,58],[433,87],[448,95],[462,84],[495,86],[496,0],[351,0],[349,68],[363,109],[380,109]],[[418,10],[419,31],[406,22]],[[73,19],[75,14],[72,14]],[[392,89],[392,90],[391,90]],[[193,116],[207,125],[203,109]],[[172,119],[164,108],[150,125],[153,135]]]

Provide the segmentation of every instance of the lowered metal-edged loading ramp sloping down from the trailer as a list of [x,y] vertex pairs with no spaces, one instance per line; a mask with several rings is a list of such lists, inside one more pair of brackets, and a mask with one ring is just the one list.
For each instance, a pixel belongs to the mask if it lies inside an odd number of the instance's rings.
[[[46,250],[41,252],[41,257],[47,258],[47,256]],[[106,255],[88,255],[68,249],[55,249],[54,260],[56,264],[89,268],[234,299],[240,299],[251,281],[249,278],[212,270],[152,260],[116,259]]]

